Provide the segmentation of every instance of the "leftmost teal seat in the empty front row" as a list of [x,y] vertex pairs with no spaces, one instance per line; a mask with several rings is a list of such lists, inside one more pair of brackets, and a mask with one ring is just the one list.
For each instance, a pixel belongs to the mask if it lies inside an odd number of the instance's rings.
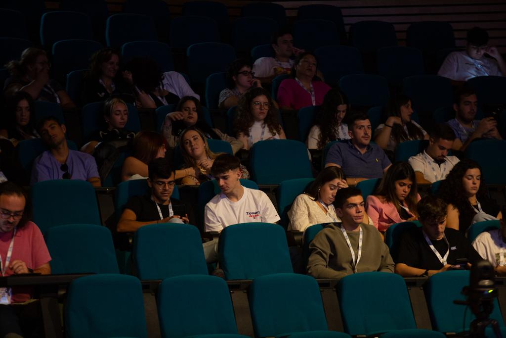
[[68,338],[147,338],[138,278],[101,274],[70,283],[64,307]]

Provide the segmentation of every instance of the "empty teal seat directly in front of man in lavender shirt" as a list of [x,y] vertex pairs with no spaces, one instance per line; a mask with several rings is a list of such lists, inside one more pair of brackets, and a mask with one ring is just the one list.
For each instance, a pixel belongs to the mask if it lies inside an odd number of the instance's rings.
[[93,185],[77,179],[57,179],[32,185],[33,222],[45,234],[63,224],[102,224]]

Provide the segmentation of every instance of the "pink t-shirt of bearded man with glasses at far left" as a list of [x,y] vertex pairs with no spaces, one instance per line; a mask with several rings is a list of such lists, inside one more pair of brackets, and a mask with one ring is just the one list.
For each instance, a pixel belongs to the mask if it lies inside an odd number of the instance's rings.
[[[0,255],[2,255],[2,265],[5,265],[7,251],[9,250],[13,233],[14,232],[0,233]],[[29,269],[36,269],[49,263],[51,260],[42,233],[35,223],[31,221],[28,221],[23,228],[18,229],[16,232],[10,264],[18,259],[24,261],[26,267]],[[5,275],[10,276],[13,274],[12,270],[7,268]],[[12,302],[22,303],[28,301],[28,299],[30,299],[30,291],[31,288],[29,287],[13,288]]]

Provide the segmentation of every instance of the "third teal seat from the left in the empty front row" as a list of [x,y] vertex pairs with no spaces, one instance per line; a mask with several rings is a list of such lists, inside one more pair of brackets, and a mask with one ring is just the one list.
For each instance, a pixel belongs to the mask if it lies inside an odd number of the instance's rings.
[[297,332],[315,338],[350,337],[328,331],[320,288],[311,276],[280,273],[255,278],[249,287],[249,308],[256,337],[291,337]]

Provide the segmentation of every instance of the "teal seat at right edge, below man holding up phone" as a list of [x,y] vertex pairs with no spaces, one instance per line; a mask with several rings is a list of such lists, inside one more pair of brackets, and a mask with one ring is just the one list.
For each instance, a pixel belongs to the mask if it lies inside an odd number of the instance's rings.
[[468,159],[478,162],[483,170],[485,181],[489,184],[506,184],[506,158],[497,156],[506,149],[505,140],[483,139],[471,142],[466,148]]

